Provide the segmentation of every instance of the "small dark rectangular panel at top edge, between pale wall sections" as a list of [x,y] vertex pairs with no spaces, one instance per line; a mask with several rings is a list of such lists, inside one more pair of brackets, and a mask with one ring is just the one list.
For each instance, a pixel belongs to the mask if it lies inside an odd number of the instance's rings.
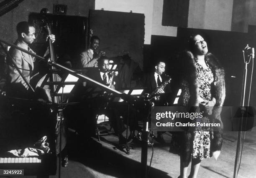
[[164,0],[162,25],[187,27],[189,0]]

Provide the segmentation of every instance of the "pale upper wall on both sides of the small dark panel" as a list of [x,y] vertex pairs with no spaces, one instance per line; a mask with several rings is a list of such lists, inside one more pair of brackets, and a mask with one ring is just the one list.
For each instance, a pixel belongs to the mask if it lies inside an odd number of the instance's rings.
[[[145,42],[151,35],[177,36],[177,27],[163,26],[164,0],[95,0],[95,9],[145,14]],[[188,28],[231,30],[233,0],[190,0]]]

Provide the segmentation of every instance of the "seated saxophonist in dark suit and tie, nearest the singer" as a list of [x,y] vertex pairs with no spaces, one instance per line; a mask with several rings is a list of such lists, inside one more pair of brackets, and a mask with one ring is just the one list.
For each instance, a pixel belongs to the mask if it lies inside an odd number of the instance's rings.
[[[164,106],[171,93],[171,85],[166,82],[171,80],[165,72],[165,62],[164,59],[159,59],[154,65],[154,72],[146,74],[144,77],[143,85],[146,88],[146,93],[154,97],[159,95],[159,101],[155,102],[156,106]],[[167,83],[167,84],[166,84]],[[157,132],[156,141],[159,143],[165,143],[163,138],[163,132]]]

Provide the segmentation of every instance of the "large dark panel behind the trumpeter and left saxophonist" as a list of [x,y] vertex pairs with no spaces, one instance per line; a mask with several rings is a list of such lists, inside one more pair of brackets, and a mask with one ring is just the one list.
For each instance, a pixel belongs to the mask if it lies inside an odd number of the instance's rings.
[[100,38],[100,50],[109,57],[128,53],[143,67],[143,14],[91,10],[89,19],[93,35]]

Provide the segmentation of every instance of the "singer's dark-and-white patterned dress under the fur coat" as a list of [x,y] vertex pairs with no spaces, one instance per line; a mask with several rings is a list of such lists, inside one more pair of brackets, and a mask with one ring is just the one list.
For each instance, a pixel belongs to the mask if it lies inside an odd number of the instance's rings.
[[[213,74],[210,68],[203,68],[195,58],[195,67],[198,74],[199,95],[204,100],[211,100],[211,83]],[[203,117],[203,122],[209,123],[209,118]],[[197,121],[197,120],[196,120]],[[202,122],[202,121],[201,121]],[[194,132],[192,158],[210,158],[210,128],[197,127]]]

